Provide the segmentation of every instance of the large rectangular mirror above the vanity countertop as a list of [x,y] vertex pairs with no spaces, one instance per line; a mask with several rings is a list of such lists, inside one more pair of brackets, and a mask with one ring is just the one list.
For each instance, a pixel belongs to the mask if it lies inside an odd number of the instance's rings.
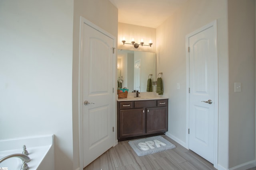
[[156,54],[144,51],[118,50],[117,87],[128,88],[129,92],[147,91],[148,78],[152,91],[156,91]]

